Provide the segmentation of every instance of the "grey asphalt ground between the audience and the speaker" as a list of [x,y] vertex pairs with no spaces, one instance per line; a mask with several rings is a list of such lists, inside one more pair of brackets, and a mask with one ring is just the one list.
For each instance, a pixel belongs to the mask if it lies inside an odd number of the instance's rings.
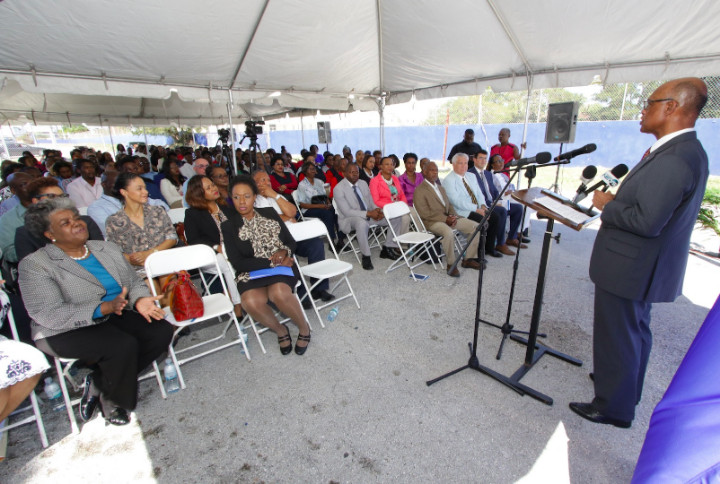
[[[529,327],[544,228],[533,221],[532,243],[520,258],[517,329]],[[167,400],[154,380],[141,382],[126,427],[96,417],[72,435],[65,413],[44,405],[50,447],[42,449],[33,425],[11,431],[0,482],[628,482],[652,410],[717,297],[718,261],[691,255],[685,296],[654,306],[645,394],[632,428],[621,430],[587,422],[567,406],[593,396],[587,268],[596,227],[557,232],[541,331],[549,346],[584,365],[544,356],[523,378],[551,396],[552,406],[470,370],[426,386],[467,363],[477,272],[453,279],[423,266],[430,278],[414,282],[405,269],[385,274],[388,261],[374,250],[373,272],[343,257],[355,265],[351,281],[362,310],[345,300],[325,329],[311,319],[305,356],[281,356],[269,333],[264,355],[251,337],[251,362],[233,347],[188,363],[188,388]],[[705,232],[695,240],[712,251],[720,245]],[[504,322],[511,269],[509,257],[490,261],[484,319]],[[478,357],[510,375],[524,347],[506,343],[498,361],[500,338],[481,325]]]

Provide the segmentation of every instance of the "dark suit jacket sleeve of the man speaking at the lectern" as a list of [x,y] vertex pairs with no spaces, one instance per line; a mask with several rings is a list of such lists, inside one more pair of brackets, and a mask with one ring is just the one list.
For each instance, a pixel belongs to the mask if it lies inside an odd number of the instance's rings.
[[675,209],[694,191],[698,177],[687,159],[675,154],[658,155],[645,167],[635,195],[625,199],[618,193],[603,209],[604,224],[641,237],[657,237],[670,221]]

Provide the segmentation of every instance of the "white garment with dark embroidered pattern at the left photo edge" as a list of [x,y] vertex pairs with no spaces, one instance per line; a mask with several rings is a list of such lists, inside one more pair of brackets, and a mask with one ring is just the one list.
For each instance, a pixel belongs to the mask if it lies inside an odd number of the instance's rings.
[[[0,291],[0,326],[10,311],[10,299]],[[0,389],[50,368],[45,356],[30,345],[0,335]]]

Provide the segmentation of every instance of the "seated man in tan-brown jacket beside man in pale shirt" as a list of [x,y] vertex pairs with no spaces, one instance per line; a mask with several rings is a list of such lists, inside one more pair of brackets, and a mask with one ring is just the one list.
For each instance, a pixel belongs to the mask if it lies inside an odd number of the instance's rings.
[[[437,165],[432,161],[425,164],[423,174],[424,183],[415,189],[415,210],[423,221],[425,228],[435,235],[442,237],[440,243],[445,252],[445,262],[447,264],[447,272],[451,277],[460,277],[460,271],[457,267],[452,270],[455,264],[455,235],[453,229],[457,229],[466,237],[477,228],[477,222],[473,222],[465,217],[458,217],[455,209],[448,199],[445,189],[437,185],[435,182],[438,178]],[[478,262],[478,242],[479,236],[476,236],[470,243],[465,258],[461,265],[471,269],[480,269]]]

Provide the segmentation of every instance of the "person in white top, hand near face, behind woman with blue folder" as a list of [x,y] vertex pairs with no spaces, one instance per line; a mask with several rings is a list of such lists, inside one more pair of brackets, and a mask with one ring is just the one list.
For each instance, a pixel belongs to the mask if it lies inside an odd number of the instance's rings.
[[[277,212],[282,221],[286,224],[295,223],[295,217],[297,216],[297,208],[295,208],[295,204],[273,190],[268,174],[264,171],[256,171],[253,175],[253,181],[255,181],[255,185],[258,188],[258,194],[255,197],[255,208],[270,207]],[[300,257],[307,257],[309,264],[325,260],[325,248],[323,247],[322,239],[320,238],[296,242],[295,253]],[[315,279],[311,279],[310,284],[312,285],[314,283]],[[335,299],[335,296],[328,292],[329,288],[330,281],[324,279],[320,282],[320,284],[315,286],[315,289],[311,293],[312,298],[322,299],[326,302]],[[298,288],[298,295],[302,297],[305,291],[305,286],[300,285]],[[303,307],[305,307],[305,309],[312,308],[312,304],[309,299],[303,300]]]

